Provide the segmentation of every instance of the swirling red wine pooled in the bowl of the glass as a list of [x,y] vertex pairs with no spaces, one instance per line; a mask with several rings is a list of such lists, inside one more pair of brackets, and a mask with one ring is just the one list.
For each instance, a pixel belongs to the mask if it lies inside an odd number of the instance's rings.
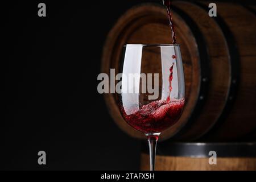
[[143,133],[160,133],[168,127],[174,125],[181,116],[184,106],[184,99],[171,101],[153,101],[150,104],[143,105],[139,108],[126,109],[119,105],[121,114],[125,121],[135,129]]

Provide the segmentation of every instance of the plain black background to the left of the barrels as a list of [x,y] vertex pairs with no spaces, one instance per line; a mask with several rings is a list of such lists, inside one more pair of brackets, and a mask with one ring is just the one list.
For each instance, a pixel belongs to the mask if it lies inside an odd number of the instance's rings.
[[[46,17],[38,3],[46,3]],[[139,169],[97,92],[106,35],[127,9],[161,1],[12,2],[6,26],[1,169]],[[5,36],[5,35],[4,35]],[[38,165],[38,151],[47,165]]]

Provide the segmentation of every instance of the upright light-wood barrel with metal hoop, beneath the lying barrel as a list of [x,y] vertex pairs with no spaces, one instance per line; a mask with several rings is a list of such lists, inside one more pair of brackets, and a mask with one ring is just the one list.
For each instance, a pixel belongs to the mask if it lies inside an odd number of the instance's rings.
[[[143,150],[141,169],[149,170],[147,143],[143,144]],[[156,170],[256,170],[256,143],[159,143]]]

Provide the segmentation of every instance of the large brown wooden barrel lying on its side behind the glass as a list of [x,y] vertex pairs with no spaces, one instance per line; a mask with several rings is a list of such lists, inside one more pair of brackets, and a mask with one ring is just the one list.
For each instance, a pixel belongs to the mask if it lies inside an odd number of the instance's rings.
[[[162,139],[237,140],[256,129],[256,16],[255,7],[217,3],[217,17],[208,4],[174,1],[172,14],[185,74],[183,115]],[[122,46],[129,43],[170,43],[170,27],[163,6],[144,4],[128,10],[109,32],[101,71],[118,72]],[[123,120],[115,94],[105,94],[117,125],[143,138]]]

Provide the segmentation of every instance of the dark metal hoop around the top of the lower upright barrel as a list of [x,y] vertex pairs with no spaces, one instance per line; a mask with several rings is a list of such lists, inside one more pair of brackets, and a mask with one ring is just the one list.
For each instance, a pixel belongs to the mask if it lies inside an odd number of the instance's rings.
[[[147,143],[142,144],[142,152],[148,153]],[[156,148],[156,154],[161,156],[179,156],[190,158],[209,158],[210,151],[215,151],[217,157],[256,157],[256,142],[162,142]]]

